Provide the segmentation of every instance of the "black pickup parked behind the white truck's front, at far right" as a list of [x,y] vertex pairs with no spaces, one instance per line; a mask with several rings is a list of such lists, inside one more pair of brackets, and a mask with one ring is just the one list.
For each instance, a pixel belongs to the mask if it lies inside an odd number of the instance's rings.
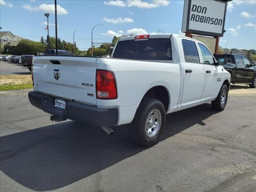
[[227,58],[224,68],[231,74],[231,83],[246,83],[256,88],[256,67],[248,58],[238,54],[214,54],[214,57]]

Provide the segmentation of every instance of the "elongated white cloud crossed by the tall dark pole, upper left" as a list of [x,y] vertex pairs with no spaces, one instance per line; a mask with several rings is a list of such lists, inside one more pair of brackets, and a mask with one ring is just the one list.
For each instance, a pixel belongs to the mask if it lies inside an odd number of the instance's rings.
[[[40,6],[34,6],[32,7],[30,4],[24,4],[22,5],[22,8],[30,11],[43,11],[43,12],[49,12],[49,13],[55,13],[55,7],[54,4],[41,4]],[[68,10],[61,7],[60,5],[57,5],[57,14],[59,15],[66,15],[68,14]]]

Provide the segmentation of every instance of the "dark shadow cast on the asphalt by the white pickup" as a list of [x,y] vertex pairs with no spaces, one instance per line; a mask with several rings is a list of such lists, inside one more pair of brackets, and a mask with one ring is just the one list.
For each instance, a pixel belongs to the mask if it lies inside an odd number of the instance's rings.
[[[169,114],[161,141],[194,124],[204,126],[216,113],[204,104]],[[147,150],[130,140],[128,126],[113,129],[109,136],[100,127],[69,121],[2,136],[1,170],[32,190],[55,190]]]

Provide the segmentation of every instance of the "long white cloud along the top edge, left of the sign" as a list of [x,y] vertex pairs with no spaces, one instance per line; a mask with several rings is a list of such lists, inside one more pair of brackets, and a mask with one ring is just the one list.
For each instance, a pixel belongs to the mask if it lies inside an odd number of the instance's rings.
[[104,1],[104,4],[106,5],[114,5],[114,6],[120,6],[120,7],[137,7],[137,8],[156,8],[160,6],[168,6],[170,2],[168,0],[152,0],[152,2],[146,2],[141,0],[127,0],[126,2],[121,0],[110,0],[108,2]]

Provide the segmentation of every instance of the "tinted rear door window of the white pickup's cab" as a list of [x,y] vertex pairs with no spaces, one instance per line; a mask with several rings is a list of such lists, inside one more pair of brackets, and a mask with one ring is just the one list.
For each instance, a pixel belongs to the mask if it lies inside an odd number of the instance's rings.
[[182,46],[186,62],[200,63],[196,43],[194,41],[182,39]]

